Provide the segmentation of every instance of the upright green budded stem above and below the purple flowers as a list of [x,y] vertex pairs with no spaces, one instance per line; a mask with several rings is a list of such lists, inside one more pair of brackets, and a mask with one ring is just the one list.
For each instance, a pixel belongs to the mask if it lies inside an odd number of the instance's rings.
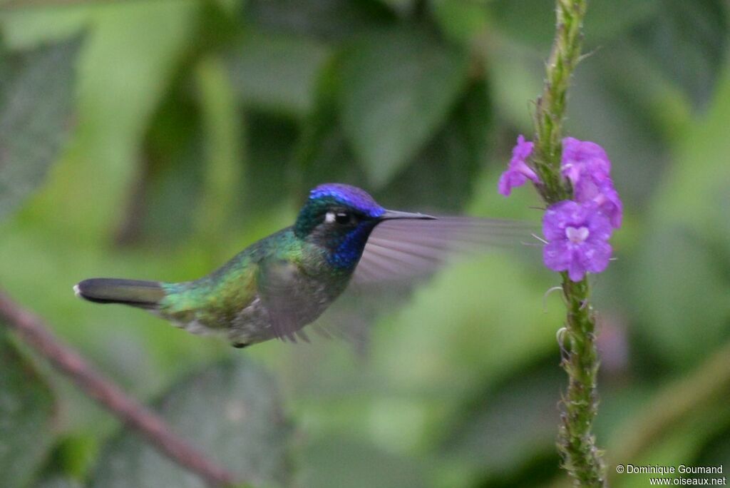
[[[545,88],[537,99],[533,162],[542,181],[537,190],[548,205],[573,197],[570,184],[560,173],[561,140],[567,91],[580,61],[585,9],[585,0],[556,1],[556,37],[546,70]],[[563,398],[558,449],[563,466],[576,486],[605,487],[604,463],[592,433],[598,404],[599,361],[594,333],[596,321],[588,302],[588,278],[575,283],[566,272],[561,276],[568,309],[565,333],[559,336],[564,350],[561,365],[568,373],[569,384]]]

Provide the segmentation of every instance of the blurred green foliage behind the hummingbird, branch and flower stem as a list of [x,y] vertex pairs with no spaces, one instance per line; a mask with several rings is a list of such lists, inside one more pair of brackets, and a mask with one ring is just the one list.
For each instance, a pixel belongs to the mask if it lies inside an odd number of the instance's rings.
[[[82,278],[182,281],[288,226],[318,183],[539,221],[496,180],[554,33],[550,0],[0,2],[0,286],[181,434],[263,486],[563,486],[566,378],[539,250],[439,272],[365,351],[244,351]],[[569,133],[623,197],[594,276],[613,463],[730,469],[730,56],[721,0],[591,0]],[[4,487],[193,487],[3,332]],[[33,366],[34,365],[34,366]]]

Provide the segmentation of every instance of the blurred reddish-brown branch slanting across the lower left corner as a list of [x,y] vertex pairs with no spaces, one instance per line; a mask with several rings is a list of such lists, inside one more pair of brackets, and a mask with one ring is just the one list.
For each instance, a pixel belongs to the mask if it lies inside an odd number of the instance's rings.
[[215,487],[234,484],[234,477],[228,470],[193,449],[172,432],[156,413],[128,397],[112,381],[93,370],[79,354],[59,343],[38,316],[21,308],[1,291],[0,319],[4,319],[10,329],[17,332],[56,369],[71,378],[83,392],[144,435],[162,454],[196,473],[207,484]]

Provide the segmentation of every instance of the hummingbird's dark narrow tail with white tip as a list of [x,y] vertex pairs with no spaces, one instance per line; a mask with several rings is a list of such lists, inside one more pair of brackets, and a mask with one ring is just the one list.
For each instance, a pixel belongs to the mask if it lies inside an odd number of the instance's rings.
[[154,309],[164,299],[165,291],[159,281],[91,278],[74,286],[77,297],[96,303],[122,303],[133,307]]

